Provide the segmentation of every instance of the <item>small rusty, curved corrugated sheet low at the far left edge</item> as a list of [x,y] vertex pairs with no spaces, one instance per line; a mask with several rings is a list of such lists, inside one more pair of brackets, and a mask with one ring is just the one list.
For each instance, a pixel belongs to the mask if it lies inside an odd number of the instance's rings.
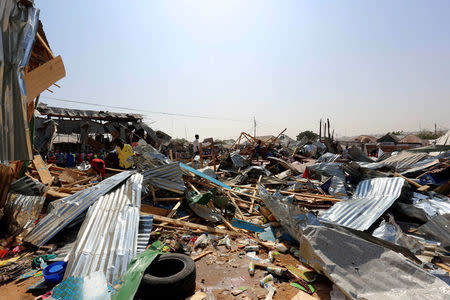
[[8,232],[16,235],[29,229],[39,217],[44,202],[45,197],[9,193],[4,208]]

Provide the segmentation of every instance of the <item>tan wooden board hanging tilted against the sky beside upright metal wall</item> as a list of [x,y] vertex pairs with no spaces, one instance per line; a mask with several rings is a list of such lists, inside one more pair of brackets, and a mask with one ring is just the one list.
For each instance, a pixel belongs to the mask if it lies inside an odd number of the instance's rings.
[[28,101],[33,101],[40,93],[66,76],[61,56],[25,73],[23,79],[27,90]]

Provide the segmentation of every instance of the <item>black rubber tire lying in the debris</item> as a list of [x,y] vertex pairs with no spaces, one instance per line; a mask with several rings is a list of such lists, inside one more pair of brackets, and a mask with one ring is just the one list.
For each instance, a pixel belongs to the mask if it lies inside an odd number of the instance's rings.
[[189,256],[162,254],[145,270],[136,298],[184,299],[195,293],[195,279],[195,262]]

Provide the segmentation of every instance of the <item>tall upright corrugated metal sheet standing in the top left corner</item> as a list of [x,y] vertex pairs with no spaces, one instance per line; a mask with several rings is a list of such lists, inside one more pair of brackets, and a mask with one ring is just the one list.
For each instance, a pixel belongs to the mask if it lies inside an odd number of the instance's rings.
[[0,1],[0,161],[31,160],[23,80],[38,28],[39,9]]

